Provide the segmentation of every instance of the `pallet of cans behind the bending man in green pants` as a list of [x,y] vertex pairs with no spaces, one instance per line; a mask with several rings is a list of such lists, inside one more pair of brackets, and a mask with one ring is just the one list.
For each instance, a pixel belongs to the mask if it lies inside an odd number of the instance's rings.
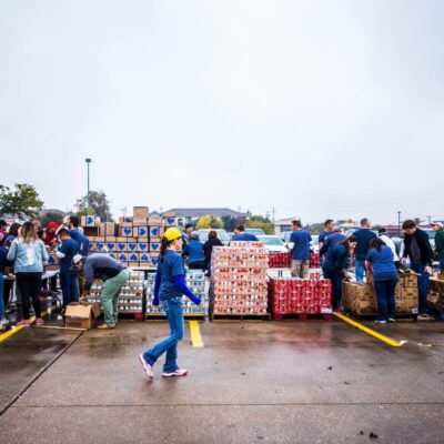
[[[119,294],[120,313],[140,313],[143,311],[143,271],[131,271],[129,280]],[[90,290],[88,302],[102,304],[103,282],[95,280]]]

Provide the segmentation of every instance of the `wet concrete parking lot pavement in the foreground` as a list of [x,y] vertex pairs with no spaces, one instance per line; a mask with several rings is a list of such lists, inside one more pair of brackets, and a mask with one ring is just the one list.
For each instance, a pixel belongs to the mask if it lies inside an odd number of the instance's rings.
[[182,379],[138,355],[165,322],[85,333],[23,329],[0,343],[4,443],[442,443],[444,323],[186,323]]

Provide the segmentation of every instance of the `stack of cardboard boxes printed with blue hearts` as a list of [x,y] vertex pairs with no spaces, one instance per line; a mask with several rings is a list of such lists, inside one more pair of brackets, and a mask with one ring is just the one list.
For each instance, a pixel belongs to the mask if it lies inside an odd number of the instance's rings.
[[119,218],[119,224],[84,216],[84,226],[97,226],[99,236],[89,236],[91,253],[109,253],[130,268],[155,268],[164,230],[175,226],[173,212],[149,215],[148,206],[134,206],[132,216]]

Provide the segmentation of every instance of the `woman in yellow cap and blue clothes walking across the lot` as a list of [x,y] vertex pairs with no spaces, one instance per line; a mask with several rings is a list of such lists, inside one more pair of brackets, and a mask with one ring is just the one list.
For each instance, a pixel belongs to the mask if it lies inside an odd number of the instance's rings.
[[183,337],[182,294],[196,305],[201,299],[195,296],[185,284],[185,268],[180,255],[182,251],[182,233],[178,229],[168,229],[162,238],[158,272],[155,274],[153,305],[159,302],[170,323],[171,333],[158,345],[139,355],[149,380],[153,380],[153,365],[167,353],[162,376],[185,376],[188,371],[176,363],[178,343]]

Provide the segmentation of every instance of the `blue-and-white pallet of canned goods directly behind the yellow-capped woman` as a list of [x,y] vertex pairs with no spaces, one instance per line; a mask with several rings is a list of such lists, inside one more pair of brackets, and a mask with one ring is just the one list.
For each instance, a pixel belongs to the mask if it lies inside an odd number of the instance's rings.
[[[186,286],[199,297],[202,299],[201,305],[195,305],[185,295],[182,296],[182,310],[183,314],[186,316],[204,316],[208,311],[208,297],[205,295],[205,275],[201,271],[186,271]],[[148,274],[147,281],[147,317],[150,316],[163,316],[164,312],[160,307],[154,307],[152,302],[154,299],[154,283],[155,273]]]

